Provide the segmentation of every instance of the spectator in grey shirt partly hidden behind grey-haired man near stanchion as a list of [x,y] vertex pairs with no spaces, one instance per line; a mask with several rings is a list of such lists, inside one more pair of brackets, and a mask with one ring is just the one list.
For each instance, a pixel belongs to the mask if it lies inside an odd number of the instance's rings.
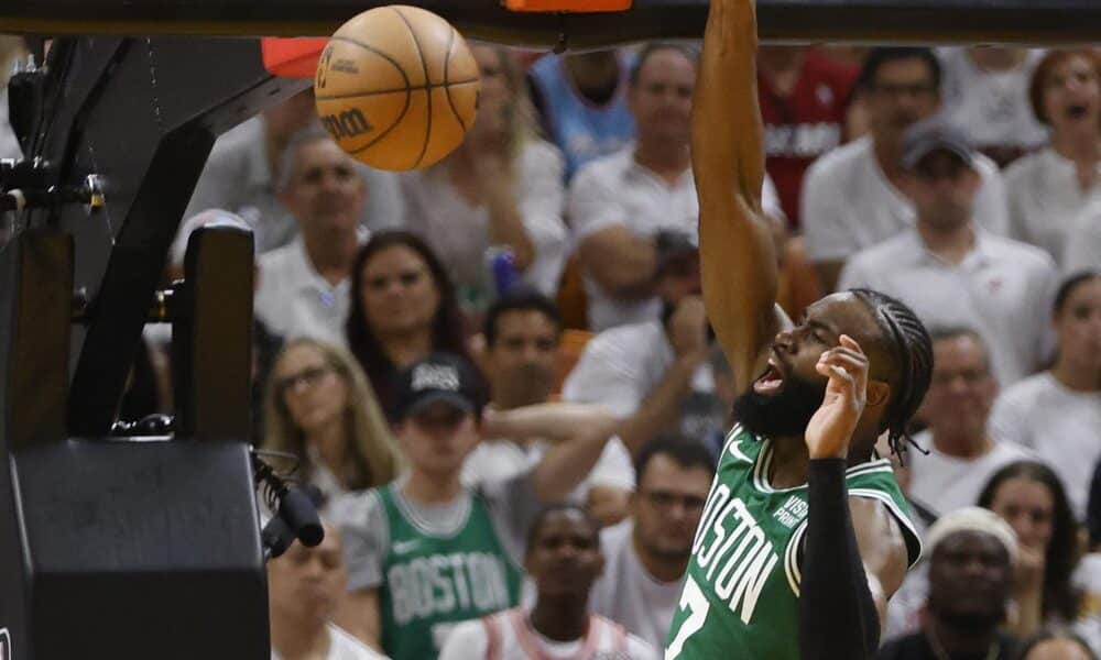
[[[258,254],[293,241],[298,223],[295,212],[280,199],[279,182],[285,177],[284,153],[291,140],[315,122],[317,110],[310,87],[222,134],[207,158],[184,218],[206,209],[237,213],[252,227]],[[359,224],[371,231],[401,224],[403,206],[397,177],[352,163],[372,191],[358,211]],[[178,255],[179,263],[192,229],[182,226],[173,244],[173,255]]]

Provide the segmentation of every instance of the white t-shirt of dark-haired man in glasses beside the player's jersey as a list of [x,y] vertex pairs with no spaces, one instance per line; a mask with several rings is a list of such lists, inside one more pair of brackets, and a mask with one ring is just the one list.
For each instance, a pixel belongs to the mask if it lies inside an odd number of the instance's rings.
[[592,585],[589,610],[618,622],[654,648],[665,648],[683,580],[659,582],[634,550],[630,518],[600,532],[604,572]]

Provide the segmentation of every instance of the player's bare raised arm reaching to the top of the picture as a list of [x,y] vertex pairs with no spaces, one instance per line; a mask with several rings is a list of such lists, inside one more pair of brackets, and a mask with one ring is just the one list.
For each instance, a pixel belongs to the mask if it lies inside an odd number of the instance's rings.
[[776,333],[776,255],[761,210],[764,145],[754,0],[711,0],[693,105],[693,174],[708,318],[739,393]]

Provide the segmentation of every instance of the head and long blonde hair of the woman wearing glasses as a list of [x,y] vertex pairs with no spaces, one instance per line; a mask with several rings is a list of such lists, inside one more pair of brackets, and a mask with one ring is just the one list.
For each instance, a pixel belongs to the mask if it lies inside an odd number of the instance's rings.
[[390,483],[402,458],[367,377],[347,351],[312,339],[276,358],[264,397],[264,448],[298,460],[327,498]]

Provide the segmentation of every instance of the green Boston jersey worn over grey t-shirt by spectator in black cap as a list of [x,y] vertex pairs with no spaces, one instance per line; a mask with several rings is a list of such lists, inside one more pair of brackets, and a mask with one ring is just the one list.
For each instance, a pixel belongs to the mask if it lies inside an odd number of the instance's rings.
[[481,495],[454,532],[435,535],[394,496],[379,488],[390,525],[382,560],[379,609],[382,647],[393,660],[432,660],[458,623],[477,619],[520,602],[522,574],[498,538]]

